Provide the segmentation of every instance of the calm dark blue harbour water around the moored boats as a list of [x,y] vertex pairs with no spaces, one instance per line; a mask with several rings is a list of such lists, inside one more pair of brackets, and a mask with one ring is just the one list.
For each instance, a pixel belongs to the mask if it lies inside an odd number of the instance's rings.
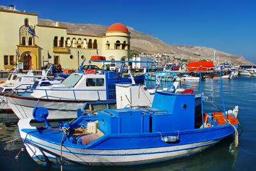
[[[220,103],[220,80],[206,80],[203,83],[205,95],[218,108]],[[199,89],[199,82],[185,81],[183,86]],[[239,138],[239,147],[234,148],[232,137],[219,144],[187,158],[141,165],[116,168],[80,168],[72,170],[256,170],[256,78],[238,77],[223,80],[226,110],[239,106],[238,118],[245,131]],[[211,103],[205,103],[205,111],[216,111]],[[0,114],[0,168],[1,170],[60,170],[60,168],[40,167],[27,154],[15,156],[22,146],[19,140],[10,144],[7,141],[19,137],[17,117],[14,114]],[[70,170],[70,168],[64,168]]]

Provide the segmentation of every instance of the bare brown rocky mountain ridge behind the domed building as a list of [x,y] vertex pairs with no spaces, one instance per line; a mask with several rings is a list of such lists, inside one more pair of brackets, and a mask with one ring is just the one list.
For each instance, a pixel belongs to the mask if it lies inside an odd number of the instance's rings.
[[[48,19],[38,19],[38,24],[47,26],[56,26],[56,21]],[[98,24],[73,24],[70,22],[59,22],[59,26],[67,27],[68,33],[91,34],[103,36],[109,26]],[[154,38],[145,33],[135,31],[132,27],[128,27],[131,33],[131,49],[146,54],[169,54],[172,57],[184,57],[192,61],[202,59],[209,60],[213,56],[216,49],[201,46],[177,46],[168,45],[167,43]],[[252,64],[242,56],[235,56],[225,52],[216,50],[216,56],[225,61],[231,61],[237,64]]]

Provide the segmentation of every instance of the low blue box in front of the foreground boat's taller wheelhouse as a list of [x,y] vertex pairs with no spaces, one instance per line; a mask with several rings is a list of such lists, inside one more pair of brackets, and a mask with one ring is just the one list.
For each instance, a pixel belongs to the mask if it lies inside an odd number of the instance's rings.
[[143,127],[147,120],[142,111],[129,108],[105,109],[98,113],[98,126],[103,133],[141,133],[149,130]]

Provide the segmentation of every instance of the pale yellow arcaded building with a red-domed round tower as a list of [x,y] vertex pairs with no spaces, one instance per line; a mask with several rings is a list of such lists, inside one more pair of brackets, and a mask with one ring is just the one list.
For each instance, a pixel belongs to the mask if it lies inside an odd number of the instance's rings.
[[[14,6],[0,6],[0,23],[0,70],[12,70],[17,62],[24,64],[24,70],[40,70],[47,62],[77,69],[82,59],[88,61],[91,56],[105,56],[107,60],[130,57],[130,33],[120,23],[112,24],[105,36],[72,34],[59,27],[59,22],[56,26],[39,25],[36,13],[17,11]],[[28,33],[29,27],[36,36]],[[17,58],[16,51],[20,55]]]

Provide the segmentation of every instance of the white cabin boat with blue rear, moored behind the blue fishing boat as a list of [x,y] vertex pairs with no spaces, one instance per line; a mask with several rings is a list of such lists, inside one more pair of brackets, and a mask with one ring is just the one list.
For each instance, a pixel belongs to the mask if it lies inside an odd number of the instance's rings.
[[[143,83],[144,74],[137,75],[134,80],[137,84]],[[130,77],[123,77],[122,73],[115,71],[80,70],[72,73],[61,84],[32,88],[27,93],[8,94],[6,99],[19,119],[32,118],[38,100],[40,107],[48,108],[49,119],[68,119],[76,117],[77,108],[82,108],[88,101],[116,100],[115,84],[131,82]]]

